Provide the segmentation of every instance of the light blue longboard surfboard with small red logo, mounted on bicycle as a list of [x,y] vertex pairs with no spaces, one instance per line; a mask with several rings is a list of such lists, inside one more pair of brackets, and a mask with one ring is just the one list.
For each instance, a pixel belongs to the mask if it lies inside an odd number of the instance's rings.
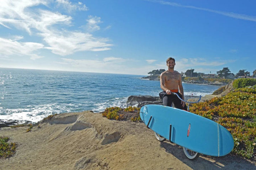
[[182,147],[211,156],[223,156],[234,147],[232,135],[223,126],[185,110],[145,105],[140,118],[162,137]]

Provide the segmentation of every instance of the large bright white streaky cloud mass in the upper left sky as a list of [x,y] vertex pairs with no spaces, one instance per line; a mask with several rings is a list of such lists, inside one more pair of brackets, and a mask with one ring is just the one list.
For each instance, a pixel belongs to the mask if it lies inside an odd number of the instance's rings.
[[[54,5],[51,3],[57,3],[58,7],[64,8],[67,12],[88,10],[81,2],[72,4],[68,0],[1,1],[0,25],[8,29],[24,30],[31,37],[38,35],[42,37],[41,43],[20,42],[23,35],[16,35],[16,38],[11,40],[2,38],[0,46],[1,48],[5,47],[3,51],[9,55],[29,55],[31,59],[37,59],[42,56],[34,52],[37,51],[39,53],[38,50],[40,49],[49,49],[52,53],[61,56],[70,55],[77,51],[104,51],[111,49],[112,44],[109,43],[110,40],[108,38],[96,38],[89,32],[78,30],[69,31],[73,18],[57,11],[50,11],[52,8],[49,6]],[[46,7],[48,7],[48,10],[46,10]],[[90,30],[100,29],[98,26],[101,23],[100,17],[89,16],[87,22]],[[4,42],[8,43],[2,44]],[[28,50],[23,50],[22,46],[28,48]],[[3,51],[0,53],[3,53]]]

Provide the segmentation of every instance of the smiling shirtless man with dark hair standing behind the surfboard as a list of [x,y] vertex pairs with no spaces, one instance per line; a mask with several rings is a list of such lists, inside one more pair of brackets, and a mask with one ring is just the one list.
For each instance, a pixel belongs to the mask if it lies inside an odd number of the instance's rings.
[[168,66],[168,70],[162,72],[160,76],[160,87],[163,91],[159,93],[159,96],[165,106],[171,106],[173,102],[175,108],[187,110],[185,102],[181,101],[175,94],[172,94],[172,92],[175,92],[184,100],[181,75],[174,70],[175,59],[172,57],[168,58],[166,65]]

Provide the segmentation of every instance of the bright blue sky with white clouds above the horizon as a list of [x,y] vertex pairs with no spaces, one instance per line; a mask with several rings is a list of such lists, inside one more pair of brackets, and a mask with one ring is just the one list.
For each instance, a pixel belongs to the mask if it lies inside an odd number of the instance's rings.
[[256,1],[1,0],[0,67],[148,75],[256,69]]

